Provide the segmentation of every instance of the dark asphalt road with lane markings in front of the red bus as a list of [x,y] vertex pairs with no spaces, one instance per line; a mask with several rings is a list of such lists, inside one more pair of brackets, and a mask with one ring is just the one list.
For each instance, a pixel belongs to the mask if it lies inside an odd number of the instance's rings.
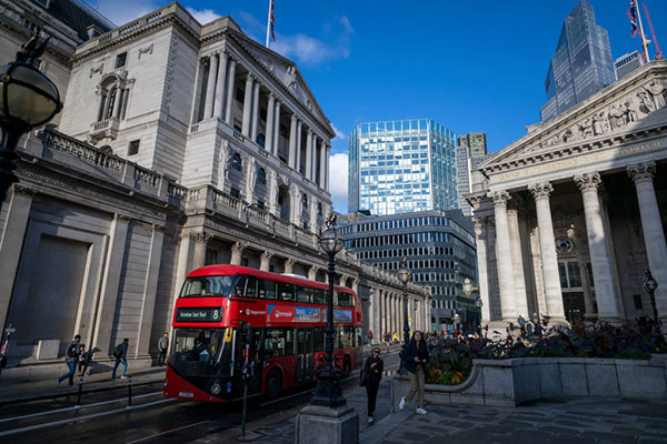
[[[386,356],[386,367],[396,367],[396,353]],[[360,423],[366,422],[365,391],[357,385],[358,376],[352,375],[344,383],[355,400]],[[389,413],[388,382],[379,396],[378,415]],[[315,385],[291,391],[273,402],[256,398],[248,411],[248,432],[260,430],[262,424],[281,415],[291,431],[289,442],[293,442],[293,415],[312,397]],[[306,389],[306,390],[303,390]],[[127,389],[122,385],[115,391],[89,393],[82,398],[82,407],[76,408],[76,397],[33,401],[8,405],[0,408],[0,442],[36,443],[44,440],[51,443],[86,443],[102,438],[108,443],[173,443],[207,441],[231,431],[238,435],[241,422],[241,404],[209,404],[193,401],[165,398],[161,383],[135,387],[132,407],[128,408]],[[350,398],[350,402],[352,402]],[[291,416],[290,416],[291,415]],[[289,428],[289,426],[288,426]],[[273,441],[276,442],[276,441]]]

